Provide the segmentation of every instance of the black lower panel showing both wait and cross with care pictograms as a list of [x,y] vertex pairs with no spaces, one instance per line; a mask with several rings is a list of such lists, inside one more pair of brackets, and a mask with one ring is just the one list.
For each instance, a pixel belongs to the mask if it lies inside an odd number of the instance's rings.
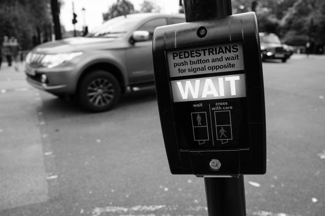
[[182,149],[247,147],[246,98],[174,103]]

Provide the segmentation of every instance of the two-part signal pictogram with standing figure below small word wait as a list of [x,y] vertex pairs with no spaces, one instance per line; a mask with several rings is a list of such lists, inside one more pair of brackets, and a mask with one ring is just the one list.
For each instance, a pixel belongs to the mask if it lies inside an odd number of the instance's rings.
[[202,145],[209,140],[207,112],[192,112],[191,118],[194,141],[199,141],[199,145]]

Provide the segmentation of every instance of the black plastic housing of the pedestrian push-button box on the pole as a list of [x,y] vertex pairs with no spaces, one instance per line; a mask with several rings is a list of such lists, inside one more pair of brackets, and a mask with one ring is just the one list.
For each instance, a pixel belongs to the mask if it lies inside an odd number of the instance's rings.
[[[204,37],[198,35],[198,29],[202,29],[202,27],[207,30]],[[170,75],[169,52],[228,45],[234,42],[242,44],[244,62],[242,70],[207,74],[191,73],[177,77]],[[255,14],[251,12],[158,27],[153,37],[153,62],[161,129],[172,174],[193,174],[196,176],[265,174],[265,99]],[[234,74],[244,74],[245,97],[174,102],[173,81]],[[233,140],[224,145],[220,144],[220,140],[216,140],[220,132],[216,120],[218,113],[217,111],[211,112],[211,104],[218,104],[218,102],[227,102],[227,104],[235,107],[229,112],[229,115],[233,117],[231,118],[231,127],[225,127],[234,130],[231,132]],[[196,103],[202,103],[201,106],[209,107],[209,110],[208,108],[194,107]],[[195,136],[200,137],[201,134],[194,132],[194,117],[191,115],[193,113],[194,115],[200,114],[201,111],[205,113],[207,118],[206,127],[210,140],[204,141],[203,145],[196,145],[197,141],[192,140],[195,139]],[[189,119],[191,119],[192,125],[190,125]],[[208,125],[210,123],[211,126]],[[191,135],[190,126],[193,127],[193,135]],[[229,129],[227,130],[227,135],[229,135]],[[214,170],[210,167],[209,163],[212,159],[220,161],[221,167],[219,169]]]

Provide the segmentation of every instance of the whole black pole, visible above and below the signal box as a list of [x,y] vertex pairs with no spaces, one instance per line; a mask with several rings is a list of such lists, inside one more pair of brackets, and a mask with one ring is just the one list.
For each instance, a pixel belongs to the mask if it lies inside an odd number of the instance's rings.
[[[231,0],[184,0],[186,22],[232,15]],[[246,216],[244,177],[204,178],[209,216]]]

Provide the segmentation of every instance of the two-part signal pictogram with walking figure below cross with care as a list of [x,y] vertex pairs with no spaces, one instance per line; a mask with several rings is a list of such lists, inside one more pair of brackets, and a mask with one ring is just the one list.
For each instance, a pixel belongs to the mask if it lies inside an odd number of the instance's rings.
[[221,144],[228,143],[233,139],[231,112],[215,111],[214,112],[217,140],[221,140]]

